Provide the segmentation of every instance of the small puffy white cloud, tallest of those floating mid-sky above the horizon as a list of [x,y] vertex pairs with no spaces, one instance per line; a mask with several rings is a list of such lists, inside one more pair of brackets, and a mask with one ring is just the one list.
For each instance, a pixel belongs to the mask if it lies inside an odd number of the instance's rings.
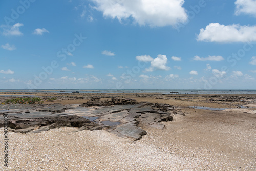
[[166,66],[167,64],[167,57],[166,55],[158,55],[153,61],[151,61],[151,66],[146,68],[145,71],[152,72],[154,70],[169,70],[170,67]]

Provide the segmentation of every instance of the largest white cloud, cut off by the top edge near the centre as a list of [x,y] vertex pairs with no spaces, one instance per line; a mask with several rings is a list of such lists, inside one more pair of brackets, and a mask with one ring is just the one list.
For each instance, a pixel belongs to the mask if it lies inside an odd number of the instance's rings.
[[103,12],[103,16],[120,22],[130,17],[139,25],[174,26],[178,22],[185,22],[188,18],[182,7],[184,0],[92,0],[95,9]]

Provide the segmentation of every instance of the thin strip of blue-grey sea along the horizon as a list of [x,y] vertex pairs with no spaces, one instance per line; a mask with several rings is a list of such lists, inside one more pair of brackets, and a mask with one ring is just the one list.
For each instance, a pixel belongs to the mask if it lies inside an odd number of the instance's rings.
[[[13,92],[26,92],[29,94],[39,93],[72,93],[78,91],[79,93],[163,93],[163,94],[256,94],[256,90],[197,90],[197,89],[98,89],[98,90],[85,90],[85,89],[0,89],[1,92],[10,93]],[[13,94],[15,95],[15,94]]]

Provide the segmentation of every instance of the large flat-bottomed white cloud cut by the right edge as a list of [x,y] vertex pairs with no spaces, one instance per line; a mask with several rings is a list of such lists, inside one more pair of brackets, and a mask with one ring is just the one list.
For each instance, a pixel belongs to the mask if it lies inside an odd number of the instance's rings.
[[247,42],[256,41],[256,26],[220,25],[210,23],[205,29],[200,29],[197,41],[206,42]]

